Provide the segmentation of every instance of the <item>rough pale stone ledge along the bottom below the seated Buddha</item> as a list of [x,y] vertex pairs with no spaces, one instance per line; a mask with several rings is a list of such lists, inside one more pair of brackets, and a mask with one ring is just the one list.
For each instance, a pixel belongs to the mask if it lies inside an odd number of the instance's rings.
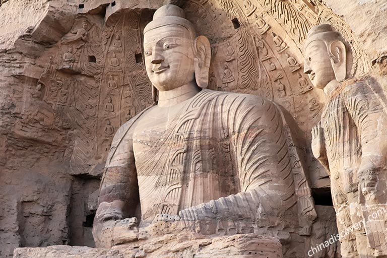
[[200,234],[169,234],[146,243],[133,242],[111,249],[54,245],[17,248],[14,258],[282,258],[280,242],[273,237],[237,234],[207,238]]

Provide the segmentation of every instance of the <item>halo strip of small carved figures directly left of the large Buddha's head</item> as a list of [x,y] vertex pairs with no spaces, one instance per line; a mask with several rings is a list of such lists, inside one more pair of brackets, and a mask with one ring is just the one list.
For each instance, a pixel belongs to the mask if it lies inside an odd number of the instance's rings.
[[132,11],[113,20],[106,40],[101,76],[97,146],[106,155],[117,128],[152,103],[151,85],[141,55],[140,13]]

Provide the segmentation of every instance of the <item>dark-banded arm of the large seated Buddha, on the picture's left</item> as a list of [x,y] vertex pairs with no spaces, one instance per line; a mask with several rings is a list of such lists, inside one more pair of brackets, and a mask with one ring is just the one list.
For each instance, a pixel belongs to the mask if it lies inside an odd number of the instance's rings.
[[139,189],[131,132],[121,127],[114,136],[102,178],[95,223],[135,217]]

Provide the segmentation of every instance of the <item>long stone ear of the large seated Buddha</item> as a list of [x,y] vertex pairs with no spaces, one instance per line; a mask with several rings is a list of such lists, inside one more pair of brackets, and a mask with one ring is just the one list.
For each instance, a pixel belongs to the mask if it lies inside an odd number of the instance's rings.
[[210,41],[205,36],[195,39],[195,78],[200,88],[207,88],[211,62]]

